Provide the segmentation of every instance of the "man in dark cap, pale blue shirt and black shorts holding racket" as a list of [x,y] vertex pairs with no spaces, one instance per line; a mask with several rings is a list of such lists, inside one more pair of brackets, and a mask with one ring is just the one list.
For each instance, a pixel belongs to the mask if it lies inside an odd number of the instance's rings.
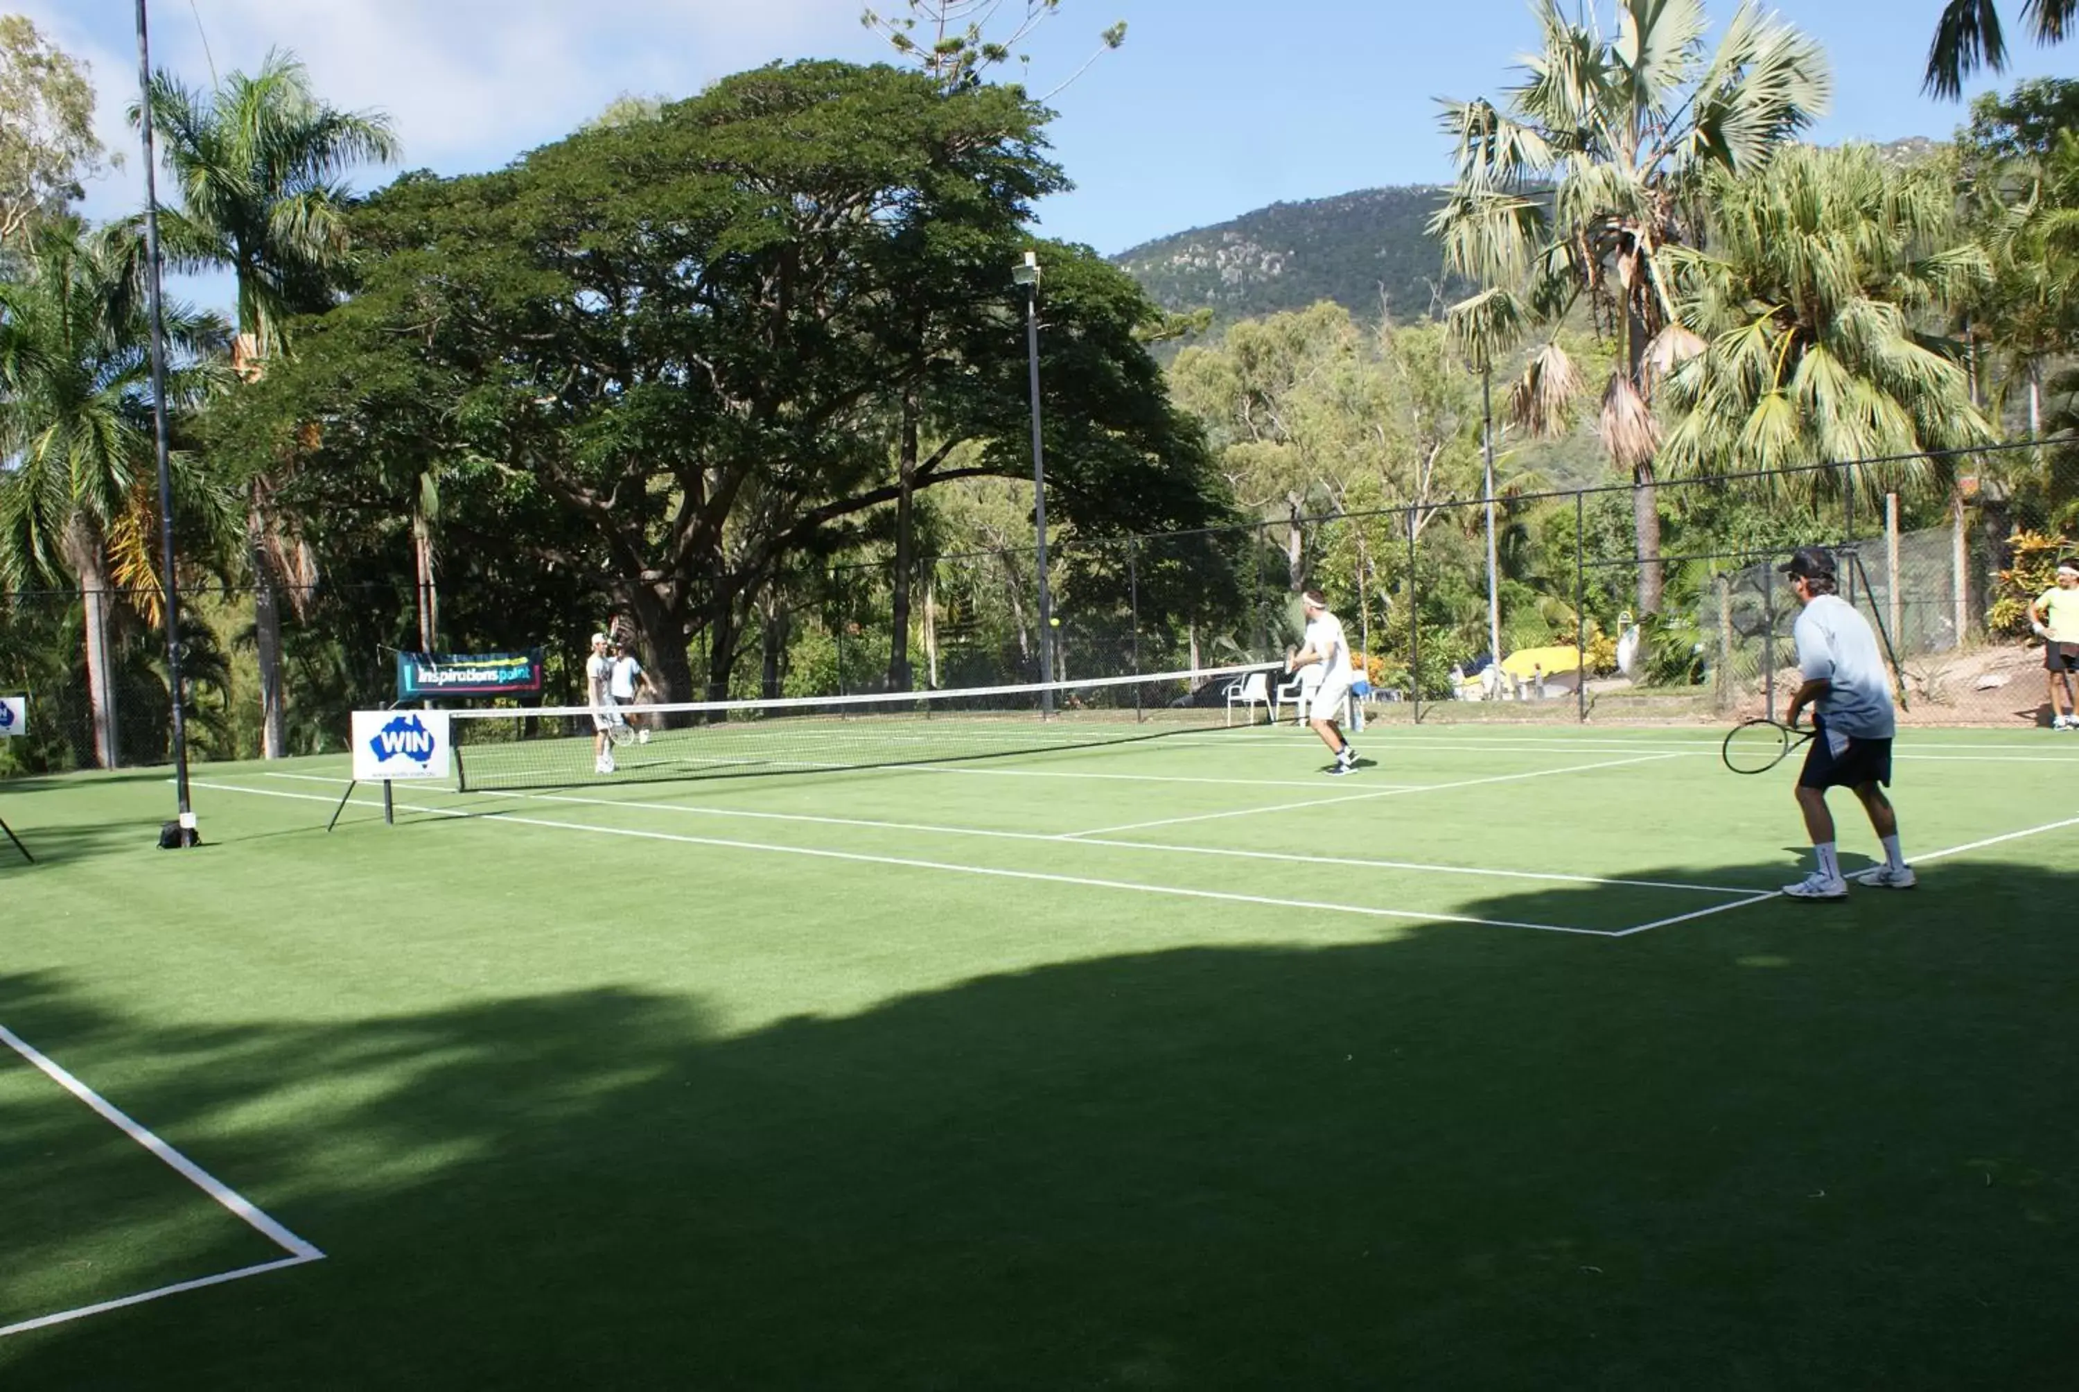
[[1884,843],[1884,863],[1859,874],[1857,882],[1871,888],[1913,888],[1913,866],[1898,851],[1898,814],[1884,795],[1892,782],[1892,734],[1898,722],[1877,635],[1852,603],[1834,593],[1834,558],[1825,547],[1798,547],[1784,574],[1805,605],[1794,628],[1805,682],[1790,697],[1784,724],[1794,726],[1807,705],[1817,712],[1817,732],[1805,755],[1805,772],[1798,774],[1798,809],[1805,814],[1817,866],[1796,884],[1786,884],[1784,893],[1792,899],[1848,897],[1834,845],[1834,814],[1825,805],[1827,789],[1850,789]]

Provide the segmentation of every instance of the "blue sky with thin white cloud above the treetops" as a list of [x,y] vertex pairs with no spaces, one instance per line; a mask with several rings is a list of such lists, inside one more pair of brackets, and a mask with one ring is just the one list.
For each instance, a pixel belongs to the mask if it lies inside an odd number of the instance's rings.
[[[1607,15],[1609,0],[1595,8]],[[1732,8],[1721,0],[1713,15]],[[1919,92],[1940,0],[1773,8],[1834,62],[1834,114],[1817,139],[1946,137],[1963,121],[1963,104]],[[0,0],[0,10],[27,12],[94,65],[102,137],[131,158],[87,210],[135,208],[135,137],[121,121],[137,71],[131,0]],[[326,100],[395,119],[405,166],[464,173],[557,139],[622,92],[686,96],[775,58],[879,58],[884,42],[859,10],[859,0],[154,0],[152,25],[154,62],[198,85],[210,58],[252,69],[270,46],[291,48]],[[2021,0],[2002,0],[2002,12],[2019,33]],[[1046,233],[1100,252],[1279,200],[1441,181],[1432,98],[1499,89],[1534,40],[1524,0],[1310,0],[1283,12],[1243,0],[1062,0],[1023,46],[1033,92],[1073,73],[1116,19],[1129,23],[1125,48],[1054,102],[1056,156],[1077,189],[1042,208]],[[1971,92],[2069,75],[2079,42],[2021,42],[2015,56],[2004,79]]]

